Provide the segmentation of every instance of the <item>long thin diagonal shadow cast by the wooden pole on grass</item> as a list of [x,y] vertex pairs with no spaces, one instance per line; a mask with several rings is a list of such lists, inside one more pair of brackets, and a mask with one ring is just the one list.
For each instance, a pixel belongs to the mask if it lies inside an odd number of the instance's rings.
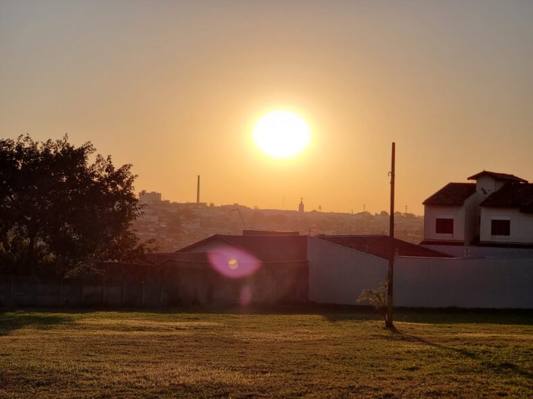
[[420,344],[431,346],[432,348],[440,349],[441,351],[445,351],[448,353],[455,353],[459,356],[468,357],[468,359],[477,361],[480,366],[482,366],[484,369],[487,369],[487,371],[496,371],[496,372],[512,372],[516,375],[519,375],[523,378],[527,378],[528,380],[533,380],[533,373],[527,370],[521,369],[516,364],[512,364],[509,362],[493,362],[493,361],[487,361],[484,360],[480,354],[475,353],[473,351],[467,351],[466,349],[461,348],[454,348],[453,346],[446,346],[443,344],[437,344],[435,342],[430,342],[428,339],[423,339],[421,337],[416,337],[416,335],[410,335],[405,334],[405,332],[401,332],[397,328],[391,328],[389,329],[391,331],[391,339],[398,339],[400,341],[407,341],[407,342],[418,342]]

